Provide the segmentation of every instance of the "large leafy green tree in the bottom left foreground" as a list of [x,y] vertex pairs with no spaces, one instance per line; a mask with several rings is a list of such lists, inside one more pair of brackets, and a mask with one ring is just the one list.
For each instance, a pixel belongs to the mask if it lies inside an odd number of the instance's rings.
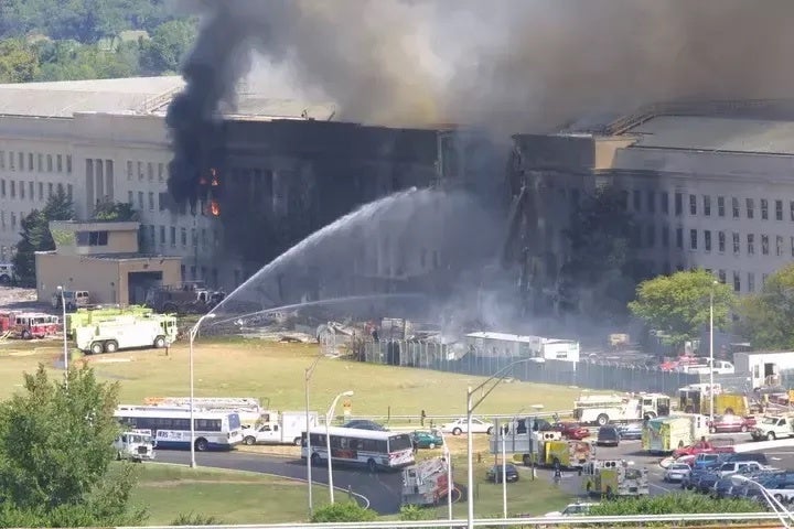
[[[131,464],[111,466],[119,433],[118,384],[98,382],[88,367],[51,381],[43,365],[24,390],[0,404],[0,497],[8,518],[28,527],[135,525]],[[7,518],[8,517],[8,518]]]

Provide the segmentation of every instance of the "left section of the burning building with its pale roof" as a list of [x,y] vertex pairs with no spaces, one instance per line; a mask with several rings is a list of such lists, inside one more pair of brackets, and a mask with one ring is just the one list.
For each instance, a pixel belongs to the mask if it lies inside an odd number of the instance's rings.
[[[0,260],[11,259],[21,219],[63,188],[79,220],[101,202],[132,204],[141,251],[180,257],[182,280],[228,291],[358,205],[437,182],[436,130],[334,122],[328,105],[243,94],[203,145],[207,201],[176,203],[164,117],[183,87],[180,77],[0,85]],[[388,283],[443,268],[430,246],[387,246],[351,256],[362,277]]]

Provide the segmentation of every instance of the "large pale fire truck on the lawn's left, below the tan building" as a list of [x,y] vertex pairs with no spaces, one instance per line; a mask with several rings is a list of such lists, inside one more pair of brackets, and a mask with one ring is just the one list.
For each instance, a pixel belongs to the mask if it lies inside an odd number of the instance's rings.
[[139,347],[161,348],[176,339],[173,316],[121,317],[75,328],[77,348],[90,354]]

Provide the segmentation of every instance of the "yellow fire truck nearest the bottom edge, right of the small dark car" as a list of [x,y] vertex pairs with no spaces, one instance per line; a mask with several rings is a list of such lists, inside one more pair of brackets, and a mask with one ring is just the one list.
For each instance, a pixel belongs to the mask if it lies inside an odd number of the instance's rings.
[[647,468],[637,468],[624,460],[591,460],[582,468],[582,489],[607,498],[647,496],[651,493]]

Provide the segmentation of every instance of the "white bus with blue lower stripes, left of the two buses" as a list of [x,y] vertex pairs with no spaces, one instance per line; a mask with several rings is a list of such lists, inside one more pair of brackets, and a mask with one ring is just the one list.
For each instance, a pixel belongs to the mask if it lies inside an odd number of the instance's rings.
[[[190,409],[119,406],[114,415],[125,428],[149,430],[158,449],[190,449]],[[230,450],[243,442],[239,414],[193,410],[195,450]]]

